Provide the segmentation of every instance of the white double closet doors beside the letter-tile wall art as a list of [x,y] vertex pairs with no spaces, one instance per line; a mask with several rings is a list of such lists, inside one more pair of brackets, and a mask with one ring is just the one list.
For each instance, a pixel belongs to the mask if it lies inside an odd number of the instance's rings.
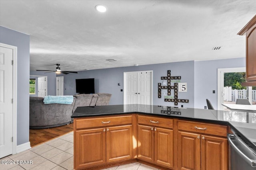
[[152,71],[124,72],[124,104],[152,105]]

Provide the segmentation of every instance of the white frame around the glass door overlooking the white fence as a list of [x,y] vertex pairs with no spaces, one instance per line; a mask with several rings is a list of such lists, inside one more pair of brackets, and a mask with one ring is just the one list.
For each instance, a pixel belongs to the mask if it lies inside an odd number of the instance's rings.
[[221,103],[224,88],[225,72],[246,72],[246,67],[218,68],[218,110],[223,110],[223,106],[221,105]]

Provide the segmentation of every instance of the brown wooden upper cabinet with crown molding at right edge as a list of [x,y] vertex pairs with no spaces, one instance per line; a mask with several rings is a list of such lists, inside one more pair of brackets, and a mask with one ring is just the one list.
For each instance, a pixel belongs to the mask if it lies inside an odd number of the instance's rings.
[[246,81],[242,86],[256,86],[256,15],[239,31],[246,35]]

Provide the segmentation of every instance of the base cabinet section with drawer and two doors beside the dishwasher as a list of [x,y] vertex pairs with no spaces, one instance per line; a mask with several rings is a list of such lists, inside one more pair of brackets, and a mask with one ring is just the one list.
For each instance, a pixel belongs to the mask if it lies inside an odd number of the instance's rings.
[[[228,142],[223,137],[226,126],[179,121],[178,128],[179,170],[228,170]],[[209,129],[222,129],[222,137],[205,135],[212,134]]]

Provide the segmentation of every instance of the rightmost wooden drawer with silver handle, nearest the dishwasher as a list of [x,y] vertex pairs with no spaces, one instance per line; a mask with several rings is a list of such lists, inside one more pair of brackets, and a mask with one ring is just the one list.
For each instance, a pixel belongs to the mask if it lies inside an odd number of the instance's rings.
[[178,129],[216,136],[227,136],[227,126],[193,121],[178,121]]

